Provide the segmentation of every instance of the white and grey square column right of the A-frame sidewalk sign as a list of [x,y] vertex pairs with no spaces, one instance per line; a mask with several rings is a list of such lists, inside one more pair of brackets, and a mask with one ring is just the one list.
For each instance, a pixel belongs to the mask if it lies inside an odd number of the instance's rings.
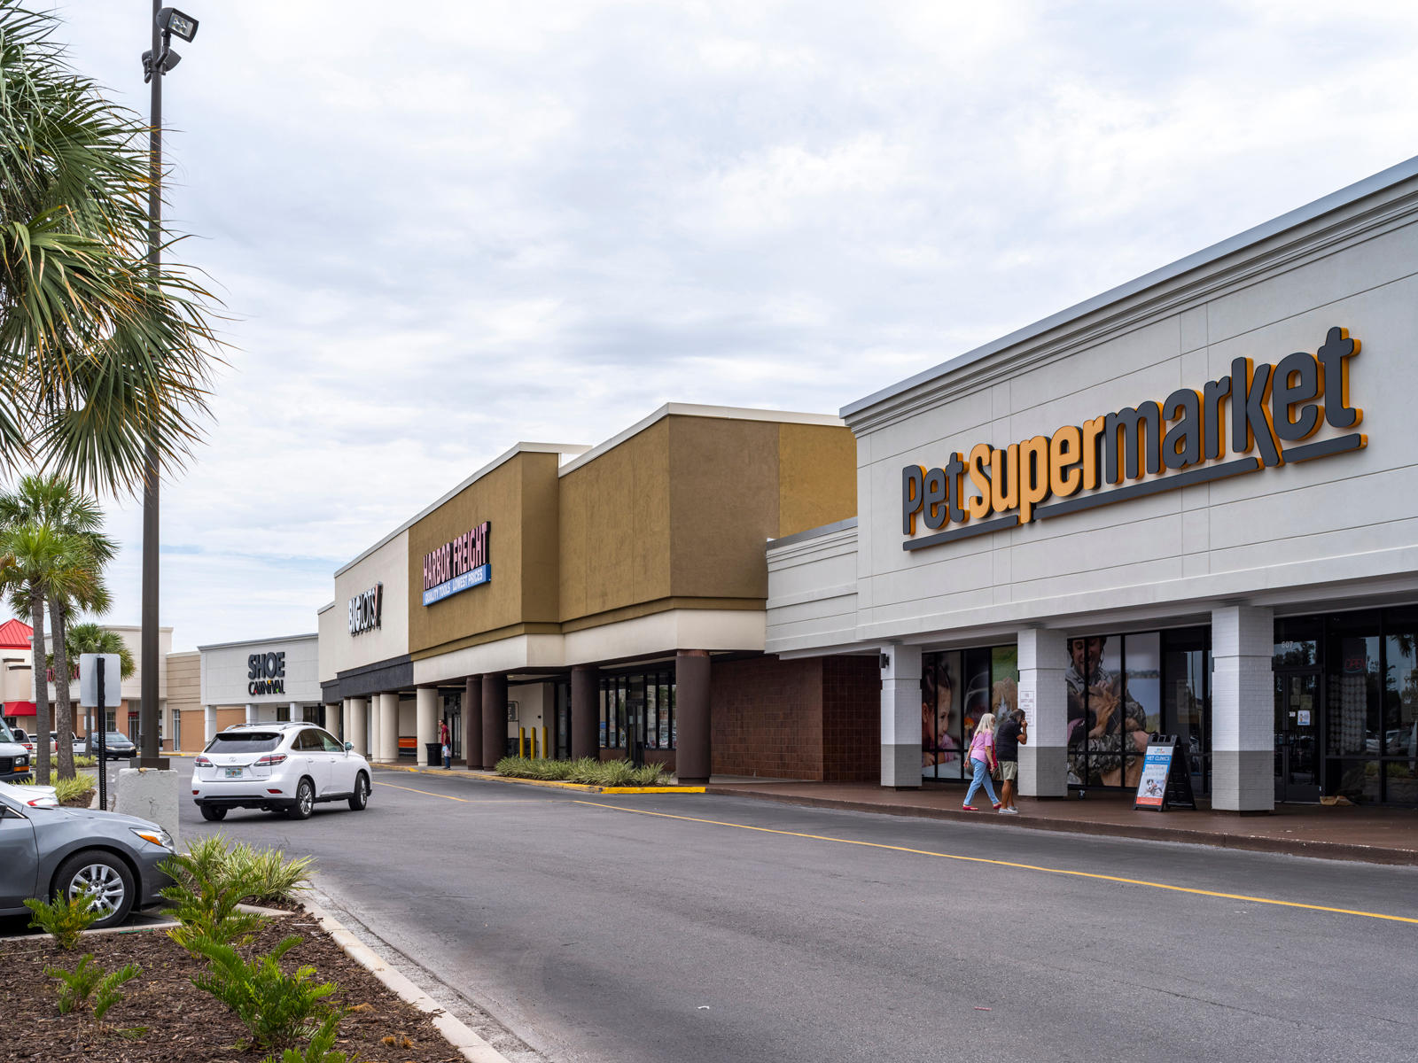
[[1275,617],[1252,605],[1211,611],[1211,806],[1275,809]]

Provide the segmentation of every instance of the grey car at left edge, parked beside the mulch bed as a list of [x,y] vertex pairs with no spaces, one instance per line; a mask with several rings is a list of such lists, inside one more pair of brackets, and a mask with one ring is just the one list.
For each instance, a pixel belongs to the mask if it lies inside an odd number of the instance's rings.
[[172,880],[157,865],[173,842],[157,823],[118,812],[48,806],[0,791],[0,916],[23,914],[26,897],[94,894],[102,914],[95,927],[128,918],[135,907],[157,904]]

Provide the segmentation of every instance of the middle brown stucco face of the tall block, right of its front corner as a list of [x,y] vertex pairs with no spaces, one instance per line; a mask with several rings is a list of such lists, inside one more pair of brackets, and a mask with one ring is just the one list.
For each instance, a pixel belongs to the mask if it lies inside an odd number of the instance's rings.
[[778,425],[668,421],[674,594],[767,598],[763,544],[778,534]]

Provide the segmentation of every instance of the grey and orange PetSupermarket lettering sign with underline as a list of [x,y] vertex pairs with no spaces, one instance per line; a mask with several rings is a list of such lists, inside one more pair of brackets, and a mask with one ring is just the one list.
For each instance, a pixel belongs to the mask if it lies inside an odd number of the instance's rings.
[[[1035,435],[1004,449],[977,444],[968,458],[957,451],[943,468],[908,465],[900,473],[902,549],[1363,449],[1368,438],[1361,432],[1285,449],[1326,424],[1360,425],[1364,411],[1349,404],[1349,359],[1358,347],[1349,329],[1333,327],[1317,354],[1286,354],[1275,366],[1236,359],[1231,376],[1173,391],[1161,403],[1065,425],[1052,437]],[[1231,454],[1251,456],[1221,461]],[[1098,490],[1123,479],[1141,482]],[[968,497],[967,488],[974,492]],[[916,517],[932,530],[959,527],[913,539]]]

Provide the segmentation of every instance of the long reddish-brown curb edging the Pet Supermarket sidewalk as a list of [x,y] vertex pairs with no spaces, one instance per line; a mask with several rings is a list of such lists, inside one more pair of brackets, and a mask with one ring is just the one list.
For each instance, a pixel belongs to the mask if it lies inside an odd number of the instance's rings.
[[1044,816],[997,816],[978,812],[957,812],[950,808],[923,808],[916,805],[878,805],[871,801],[847,801],[842,798],[815,798],[800,794],[764,794],[743,791],[735,787],[706,787],[705,792],[718,797],[742,797],[756,801],[777,801],[781,805],[805,808],[835,808],[847,812],[872,812],[876,815],[909,816],[913,819],[946,819],[950,822],[994,823],[1004,828],[1029,828],[1054,833],[1092,835],[1099,838],[1130,838],[1143,842],[1181,842],[1205,845],[1212,849],[1239,849],[1255,853],[1280,853],[1283,856],[1306,856],[1320,860],[1350,860],[1354,863],[1384,863],[1397,866],[1418,866],[1418,852],[1412,849],[1385,849],[1374,845],[1347,845],[1344,842],[1306,842],[1303,839],[1262,838],[1258,835],[1228,835],[1187,828],[1132,826],[1120,823],[1083,822],[1078,819],[1051,819]]

